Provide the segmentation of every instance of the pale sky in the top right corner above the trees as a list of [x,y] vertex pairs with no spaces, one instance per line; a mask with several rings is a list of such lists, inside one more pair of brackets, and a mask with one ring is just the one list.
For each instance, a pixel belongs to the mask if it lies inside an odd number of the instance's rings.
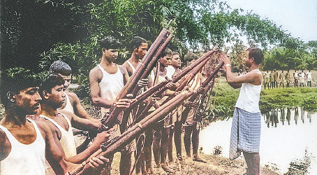
[[253,10],[294,38],[317,41],[317,0],[223,0],[231,8]]

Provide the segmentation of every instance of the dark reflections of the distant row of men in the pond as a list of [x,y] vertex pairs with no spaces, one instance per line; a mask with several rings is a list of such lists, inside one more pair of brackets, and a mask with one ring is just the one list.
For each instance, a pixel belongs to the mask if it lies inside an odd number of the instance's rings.
[[[278,127],[279,122],[281,122],[281,125],[284,125],[285,120],[287,121],[288,125],[290,125],[290,111],[294,111],[293,120],[295,121],[295,125],[298,124],[298,119],[300,116],[300,120],[302,120],[302,123],[305,123],[305,116],[307,116],[308,122],[311,123],[311,116],[312,112],[304,111],[304,109],[300,109],[298,107],[293,107],[293,109],[286,108],[286,109],[272,109],[271,111],[267,111],[263,114],[265,124],[267,127]],[[306,115],[305,115],[306,114]],[[280,116],[280,117],[279,117]]]

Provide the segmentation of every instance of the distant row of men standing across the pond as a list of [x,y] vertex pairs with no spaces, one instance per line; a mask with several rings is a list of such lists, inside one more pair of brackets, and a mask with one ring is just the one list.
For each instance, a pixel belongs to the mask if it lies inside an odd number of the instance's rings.
[[[289,70],[286,73],[283,70],[280,73],[277,70],[263,73],[263,86],[265,89],[284,87],[284,85],[285,87],[290,87],[291,80]],[[304,87],[305,82],[307,86],[311,87],[311,80],[311,70],[307,72],[295,70],[293,73],[294,87],[298,87],[298,84],[300,84],[300,87]]]

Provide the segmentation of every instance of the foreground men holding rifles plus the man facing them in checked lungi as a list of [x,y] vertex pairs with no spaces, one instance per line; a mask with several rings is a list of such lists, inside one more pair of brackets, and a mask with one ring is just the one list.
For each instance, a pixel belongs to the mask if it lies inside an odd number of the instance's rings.
[[[112,36],[103,38],[100,42],[99,53],[101,62],[91,69],[89,81],[91,87],[92,103],[101,107],[102,116],[110,111],[122,87],[133,75],[143,57],[147,53],[147,40],[135,36],[129,49],[131,57],[121,66],[115,64],[119,55],[121,43]],[[233,76],[230,69],[230,58],[222,55],[226,66],[228,83],[237,88],[242,87],[236,104],[234,116],[232,141],[230,142],[230,158],[237,158],[244,153],[247,174],[259,173],[258,147],[260,140],[260,111],[258,99],[262,83],[262,76],[258,71],[263,53],[259,49],[249,49],[246,66],[249,73],[242,76]],[[191,60],[189,60],[191,61]],[[191,64],[192,62],[189,62]],[[158,66],[147,79],[142,79],[138,85],[146,90],[155,83],[172,78],[179,73],[181,61],[179,53],[166,49],[158,56]],[[126,130],[126,126],[115,126],[107,132],[96,135],[94,142],[84,141],[76,146],[73,128],[89,132],[98,132],[103,125],[100,120],[89,116],[80,104],[80,99],[67,87],[71,81],[71,68],[64,62],[54,62],[50,67],[50,75],[39,81],[37,76],[25,69],[10,69],[3,71],[1,76],[1,102],[4,104],[6,114],[0,123],[0,166],[1,174],[67,174],[80,166],[84,166],[78,174],[110,174],[112,158],[93,157],[101,144]],[[204,73],[206,74],[206,73]],[[197,92],[204,90],[198,88],[205,77],[202,70],[189,82],[189,89]],[[168,90],[154,97],[156,107],[165,99],[175,95],[178,83],[168,83]],[[248,93],[249,89],[254,89]],[[246,103],[245,103],[246,102]],[[117,107],[128,109],[131,99],[119,99]],[[181,128],[184,125],[184,146],[187,158],[191,158],[193,146],[193,160],[205,162],[198,156],[199,123],[195,120],[197,104],[184,102],[175,111],[172,111],[164,120],[155,123],[145,130],[144,143],[132,142],[121,150],[120,174],[131,174],[131,153],[136,152],[135,160],[139,160],[135,167],[136,174],[154,174],[152,169],[152,152],[156,167],[159,171],[173,173],[170,165],[172,158],[172,138],[175,133],[175,146],[177,160],[182,160]],[[186,122],[181,122],[182,110],[192,107]],[[252,128],[244,123],[252,122]],[[133,116],[130,118],[133,123]],[[237,129],[238,128],[238,129]],[[237,132],[237,130],[239,132]],[[249,130],[251,130],[253,140]],[[242,135],[240,135],[242,134]],[[237,141],[237,138],[239,140]],[[140,139],[142,141],[142,139]],[[89,146],[87,147],[87,145]],[[144,148],[141,148],[142,145]],[[136,147],[136,148],[135,148]],[[168,160],[167,161],[167,156]],[[87,161],[88,160],[88,161]],[[12,162],[15,162],[13,165]],[[87,162],[80,165],[82,162]]]

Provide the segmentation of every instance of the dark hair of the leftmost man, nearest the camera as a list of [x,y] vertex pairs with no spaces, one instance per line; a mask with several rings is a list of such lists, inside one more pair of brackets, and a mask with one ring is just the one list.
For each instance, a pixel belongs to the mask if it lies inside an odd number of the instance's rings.
[[8,92],[20,94],[21,90],[29,87],[39,87],[41,83],[40,77],[28,69],[21,67],[6,69],[1,72],[0,96],[1,103],[4,107],[8,107]]

